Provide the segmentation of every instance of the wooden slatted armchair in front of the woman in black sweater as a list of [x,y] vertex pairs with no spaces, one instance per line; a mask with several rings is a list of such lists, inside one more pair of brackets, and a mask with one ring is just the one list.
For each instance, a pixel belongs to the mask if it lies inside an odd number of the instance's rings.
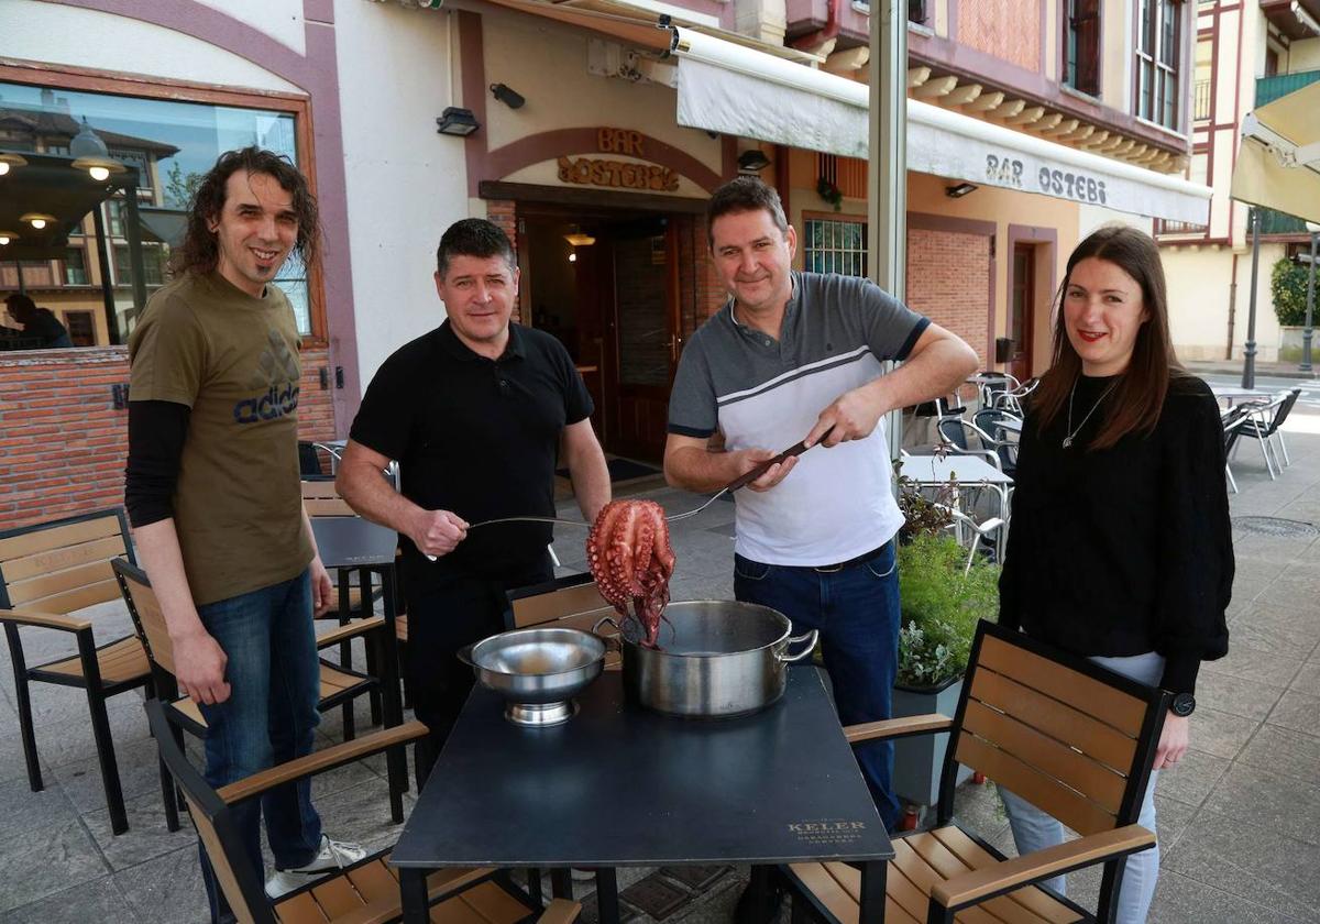
[[[1155,845],[1137,824],[1168,694],[1020,632],[982,622],[956,717],[919,715],[845,729],[853,743],[949,731],[931,830],[899,837],[886,876],[886,923],[1113,921],[1126,857]],[[1048,812],[1081,837],[1005,859],[950,824],[957,764]],[[1038,886],[1104,863],[1100,904],[1085,908]],[[857,921],[859,873],[793,863],[793,920],[810,909]]]

